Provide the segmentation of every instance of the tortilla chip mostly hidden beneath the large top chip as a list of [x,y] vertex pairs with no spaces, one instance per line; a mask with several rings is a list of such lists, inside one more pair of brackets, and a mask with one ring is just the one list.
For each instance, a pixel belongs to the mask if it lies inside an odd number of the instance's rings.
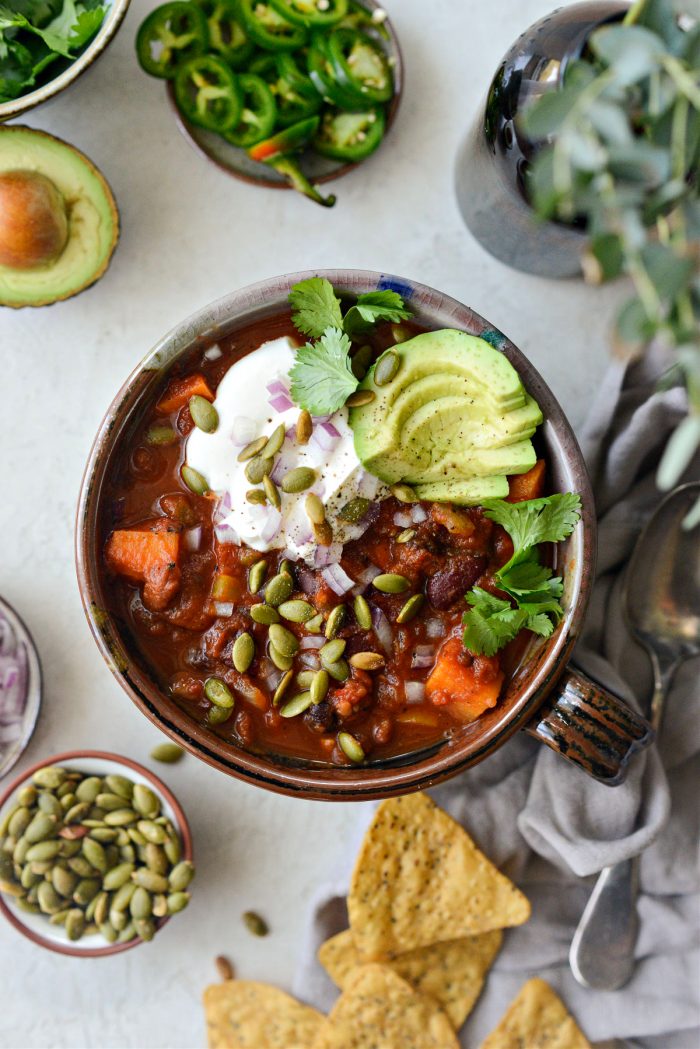
[[[384,964],[409,983],[413,990],[433,998],[445,1010],[452,1026],[459,1029],[481,994],[486,973],[502,940],[503,933],[495,929],[483,936],[419,947]],[[346,987],[358,965],[362,964],[351,929],[321,944],[318,960],[338,987]]]

